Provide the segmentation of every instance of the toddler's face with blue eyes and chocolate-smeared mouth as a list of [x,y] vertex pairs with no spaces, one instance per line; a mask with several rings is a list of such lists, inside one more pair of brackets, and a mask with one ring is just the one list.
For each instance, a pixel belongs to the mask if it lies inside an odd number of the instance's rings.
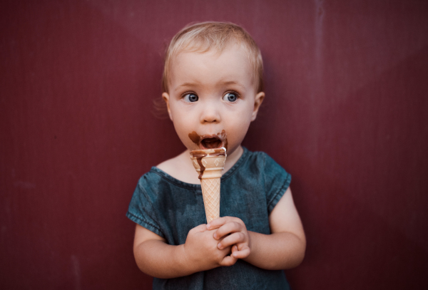
[[170,65],[169,93],[163,93],[178,137],[189,150],[242,143],[265,94],[256,93],[253,68],[243,48],[221,54],[183,51]]

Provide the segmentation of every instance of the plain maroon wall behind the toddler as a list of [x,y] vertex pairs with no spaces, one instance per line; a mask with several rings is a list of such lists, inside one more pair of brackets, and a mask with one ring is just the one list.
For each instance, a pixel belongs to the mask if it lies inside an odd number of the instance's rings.
[[184,149],[153,116],[165,43],[207,20],[263,52],[244,145],[292,173],[293,289],[427,287],[427,1],[44,0],[0,4],[0,288],[151,288],[125,213]]

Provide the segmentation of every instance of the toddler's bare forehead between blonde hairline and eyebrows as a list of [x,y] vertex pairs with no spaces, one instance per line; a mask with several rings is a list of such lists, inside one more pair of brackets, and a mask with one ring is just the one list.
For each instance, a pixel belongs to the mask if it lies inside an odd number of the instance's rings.
[[254,86],[255,72],[248,58],[245,48],[233,45],[223,51],[210,49],[186,49],[180,51],[171,59],[170,79],[171,86],[180,86],[182,83],[215,83],[235,82],[242,86]]

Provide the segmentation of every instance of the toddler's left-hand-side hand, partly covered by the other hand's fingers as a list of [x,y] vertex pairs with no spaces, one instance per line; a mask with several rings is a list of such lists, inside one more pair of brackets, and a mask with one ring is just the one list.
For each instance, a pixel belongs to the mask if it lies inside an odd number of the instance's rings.
[[218,266],[232,266],[237,258],[230,256],[231,246],[218,247],[218,239],[206,224],[190,229],[184,244],[185,259],[195,266],[195,271],[205,271]]

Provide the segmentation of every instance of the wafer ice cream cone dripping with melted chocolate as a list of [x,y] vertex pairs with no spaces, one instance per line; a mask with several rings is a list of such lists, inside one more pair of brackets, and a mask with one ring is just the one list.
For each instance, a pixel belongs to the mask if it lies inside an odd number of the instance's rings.
[[220,177],[226,156],[224,147],[190,152],[193,166],[199,173],[207,223],[220,217]]

